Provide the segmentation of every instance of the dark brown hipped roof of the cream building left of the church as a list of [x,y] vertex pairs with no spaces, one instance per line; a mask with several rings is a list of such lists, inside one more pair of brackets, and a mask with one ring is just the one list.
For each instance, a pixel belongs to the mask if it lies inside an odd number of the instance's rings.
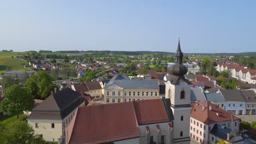
[[65,88],[51,94],[38,106],[34,107],[27,119],[63,119],[76,109],[85,99],[79,92]]

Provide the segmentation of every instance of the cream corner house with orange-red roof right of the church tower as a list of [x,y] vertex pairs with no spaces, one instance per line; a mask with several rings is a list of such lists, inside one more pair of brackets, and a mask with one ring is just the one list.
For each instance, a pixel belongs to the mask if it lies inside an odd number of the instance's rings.
[[[239,131],[241,119],[220,109],[210,101],[202,100],[192,103],[190,115],[190,138],[200,143],[212,143],[216,141],[212,138],[210,131],[214,130],[215,124]],[[213,132],[213,131],[212,131]]]

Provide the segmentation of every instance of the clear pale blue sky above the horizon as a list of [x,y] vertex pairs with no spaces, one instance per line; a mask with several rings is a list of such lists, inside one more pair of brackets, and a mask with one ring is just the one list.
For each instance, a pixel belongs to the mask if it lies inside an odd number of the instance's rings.
[[0,50],[256,51],[256,1],[4,1]]

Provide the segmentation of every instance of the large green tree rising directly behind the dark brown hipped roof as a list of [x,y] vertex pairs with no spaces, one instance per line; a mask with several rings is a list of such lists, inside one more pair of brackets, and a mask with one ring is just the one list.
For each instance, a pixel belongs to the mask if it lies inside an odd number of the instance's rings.
[[54,85],[53,80],[53,77],[45,73],[45,71],[38,71],[36,75],[30,76],[24,86],[34,98],[45,99],[57,87]]

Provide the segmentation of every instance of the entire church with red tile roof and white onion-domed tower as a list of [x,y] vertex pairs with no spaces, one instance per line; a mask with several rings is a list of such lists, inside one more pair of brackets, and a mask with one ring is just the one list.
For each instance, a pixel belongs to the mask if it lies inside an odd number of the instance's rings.
[[180,41],[165,99],[78,107],[63,143],[190,143],[190,87]]

